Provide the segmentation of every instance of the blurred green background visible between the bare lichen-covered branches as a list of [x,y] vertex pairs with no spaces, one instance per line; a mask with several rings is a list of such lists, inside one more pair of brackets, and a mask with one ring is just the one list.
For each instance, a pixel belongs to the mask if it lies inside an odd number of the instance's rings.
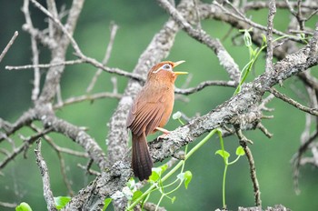
[[[45,2],[45,1],[41,1]],[[44,3],[45,4],[45,3]],[[70,1],[57,1],[58,8],[63,4],[67,6]],[[5,65],[28,65],[31,64],[32,52],[30,37],[21,28],[25,23],[21,12],[22,1],[6,1],[0,10],[0,49],[2,50],[15,30],[19,35],[15,44],[11,47],[5,59],[0,64],[0,116],[10,122],[14,122],[18,116],[30,106],[33,71],[5,70]],[[30,4],[34,25],[44,28],[46,17]],[[253,21],[266,24],[267,11],[261,10],[250,12]],[[75,30],[75,39],[85,55],[101,61],[109,40],[109,25],[112,21],[119,25],[119,30],[114,40],[114,48],[108,63],[109,66],[119,67],[126,71],[132,71],[136,65],[139,55],[149,44],[152,37],[161,29],[167,20],[161,7],[155,1],[134,1],[134,6],[127,1],[86,1],[78,25]],[[287,28],[290,14],[285,10],[278,10],[274,18],[274,26],[280,30]],[[313,20],[317,20],[313,17]],[[313,20],[306,24],[313,28]],[[243,45],[234,45],[231,41],[238,30],[233,29],[231,34],[225,35],[231,30],[227,24],[207,20],[203,22],[204,29],[213,37],[218,37],[224,43],[225,48],[234,57],[235,62],[243,68],[248,62],[248,51]],[[241,40],[242,41],[242,40]],[[49,61],[49,52],[44,46],[40,46],[40,63]],[[69,50],[67,59],[74,59],[72,50]],[[193,75],[189,86],[197,85],[204,80],[227,80],[228,75],[219,65],[213,51],[206,46],[194,41],[184,32],[180,32],[175,38],[175,44],[168,56],[169,60],[185,60],[178,70],[188,71]],[[260,75],[264,70],[264,56],[262,55],[255,65],[253,77]],[[317,67],[313,68],[313,72]],[[42,70],[42,79],[45,77],[45,69]],[[83,95],[87,85],[95,73],[91,65],[73,65],[65,67],[62,78],[62,95],[66,99],[70,96]],[[93,93],[112,91],[111,76],[103,73],[94,87]],[[118,80],[118,91],[123,93],[127,79],[116,76]],[[180,76],[176,86],[184,85],[185,77]],[[293,77],[283,83],[280,91],[292,96],[296,100],[302,100],[299,95],[291,91],[291,86],[306,95],[303,85]],[[174,111],[180,110],[186,116],[204,115],[215,106],[222,104],[234,93],[233,88],[207,87],[203,91],[186,96],[189,102],[177,101]],[[305,104],[306,102],[304,102]],[[88,133],[103,147],[106,152],[105,137],[108,133],[106,126],[117,105],[115,99],[101,99],[94,103],[84,102],[73,106],[65,106],[56,112],[57,116],[65,118],[76,126],[86,126]],[[273,138],[268,139],[260,131],[244,132],[245,136],[253,140],[253,156],[255,160],[257,176],[259,179],[263,207],[283,204],[292,210],[313,210],[318,207],[318,169],[312,166],[301,168],[300,188],[301,194],[297,196],[293,187],[293,167],[291,158],[300,145],[300,136],[303,131],[305,116],[302,112],[274,99],[268,106],[275,108],[271,113],[271,120],[263,120]],[[170,120],[166,126],[173,130],[179,126],[178,122]],[[29,136],[30,131],[23,129],[15,134],[15,146],[21,144],[18,135]],[[59,146],[72,147],[82,150],[71,140],[64,136],[50,135]],[[204,138],[202,136],[200,139]],[[151,138],[148,138],[151,139]],[[191,144],[194,146],[197,142]],[[225,149],[234,155],[238,146],[237,138],[232,136],[225,138]],[[1,143],[2,148],[11,149],[10,144]],[[21,203],[27,202],[34,210],[45,210],[45,199],[43,196],[40,172],[35,164],[35,146],[30,146],[27,151],[27,159],[19,155],[1,171],[0,176],[0,201]],[[220,148],[219,141],[213,138],[206,146],[201,148],[191,159],[186,162],[185,169],[193,173],[193,181],[187,190],[182,186],[173,196],[176,196],[174,204],[164,199],[162,206],[167,210],[214,210],[222,207],[222,177],[224,164],[214,152]],[[51,185],[54,196],[67,196],[67,189],[60,173],[60,165],[55,151],[43,142],[43,155],[47,162]],[[86,164],[86,160],[74,156],[64,155],[68,179],[72,182],[75,193],[94,179],[94,176],[85,175],[77,164]],[[1,160],[4,155],[0,155]],[[230,160],[234,156],[230,157]],[[158,201],[158,195],[151,197],[152,201]],[[236,210],[238,206],[253,206],[253,186],[249,176],[249,167],[245,157],[228,169],[226,182],[226,204],[230,210]],[[0,207],[0,210],[12,210]]]

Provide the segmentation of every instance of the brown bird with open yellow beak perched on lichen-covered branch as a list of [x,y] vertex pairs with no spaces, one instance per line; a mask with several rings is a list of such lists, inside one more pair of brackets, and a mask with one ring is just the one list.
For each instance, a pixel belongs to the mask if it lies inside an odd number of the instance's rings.
[[177,75],[186,72],[174,72],[173,68],[184,61],[165,61],[154,65],[148,75],[143,89],[135,97],[134,104],[127,118],[127,127],[133,136],[132,166],[134,176],[140,181],[152,174],[153,160],[145,136],[157,130],[168,133],[165,126],[174,107],[174,81]]

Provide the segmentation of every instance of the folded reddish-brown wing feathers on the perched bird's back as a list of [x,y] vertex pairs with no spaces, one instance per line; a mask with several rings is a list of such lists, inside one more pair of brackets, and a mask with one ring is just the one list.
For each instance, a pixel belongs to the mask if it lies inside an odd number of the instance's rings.
[[147,101],[138,99],[135,101],[137,103],[132,107],[127,120],[127,126],[135,135],[140,136],[144,131],[147,136],[159,126],[164,116],[164,101],[164,95]]

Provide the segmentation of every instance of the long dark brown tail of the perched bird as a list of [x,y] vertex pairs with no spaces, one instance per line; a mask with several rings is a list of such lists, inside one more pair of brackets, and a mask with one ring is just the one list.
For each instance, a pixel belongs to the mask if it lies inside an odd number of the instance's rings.
[[133,134],[132,166],[134,170],[134,176],[137,176],[140,181],[148,179],[152,174],[152,167],[154,166],[154,163],[149,154],[144,133],[141,136]]

